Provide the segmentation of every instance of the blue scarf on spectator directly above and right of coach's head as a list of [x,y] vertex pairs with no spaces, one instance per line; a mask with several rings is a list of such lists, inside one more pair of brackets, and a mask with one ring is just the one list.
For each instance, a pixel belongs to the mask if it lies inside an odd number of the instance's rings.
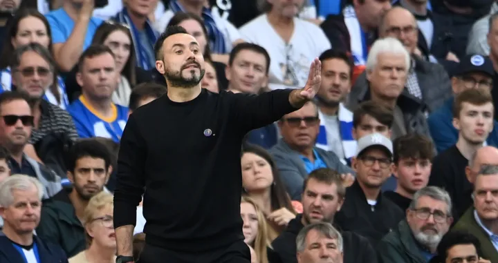
[[[176,1],[169,2],[169,9],[174,13],[176,12],[187,12],[180,6]],[[210,50],[215,54],[225,54],[228,52],[227,47],[225,45],[225,36],[216,26],[216,22],[214,21],[214,17],[211,14],[211,11],[208,8],[203,8],[202,18],[204,19],[204,24],[206,29],[208,30],[208,41]]]

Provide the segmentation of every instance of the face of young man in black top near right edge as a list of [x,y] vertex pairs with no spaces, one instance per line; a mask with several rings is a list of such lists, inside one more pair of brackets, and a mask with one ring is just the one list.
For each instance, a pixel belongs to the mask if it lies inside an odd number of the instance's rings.
[[470,144],[482,144],[493,128],[494,108],[491,102],[473,105],[463,102],[460,116],[453,118],[453,126]]

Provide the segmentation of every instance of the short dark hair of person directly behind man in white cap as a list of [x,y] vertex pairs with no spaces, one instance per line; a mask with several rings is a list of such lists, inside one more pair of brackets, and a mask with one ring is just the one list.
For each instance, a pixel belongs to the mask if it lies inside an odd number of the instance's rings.
[[353,127],[358,128],[363,117],[370,115],[382,125],[389,128],[392,127],[394,121],[393,110],[382,104],[375,103],[374,101],[364,101],[358,104],[356,110],[353,111]]

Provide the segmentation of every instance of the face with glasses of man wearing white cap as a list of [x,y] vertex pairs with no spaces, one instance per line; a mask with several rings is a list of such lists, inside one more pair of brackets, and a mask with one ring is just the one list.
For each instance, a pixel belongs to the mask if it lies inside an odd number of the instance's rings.
[[385,151],[374,146],[353,158],[352,165],[358,183],[368,188],[380,188],[391,176],[391,157]]

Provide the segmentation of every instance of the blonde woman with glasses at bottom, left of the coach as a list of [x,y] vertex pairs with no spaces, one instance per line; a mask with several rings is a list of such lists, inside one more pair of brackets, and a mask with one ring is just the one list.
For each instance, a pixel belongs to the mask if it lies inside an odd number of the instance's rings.
[[86,250],[69,259],[69,263],[116,262],[116,234],[113,226],[113,195],[100,192],[90,199],[84,210]]

